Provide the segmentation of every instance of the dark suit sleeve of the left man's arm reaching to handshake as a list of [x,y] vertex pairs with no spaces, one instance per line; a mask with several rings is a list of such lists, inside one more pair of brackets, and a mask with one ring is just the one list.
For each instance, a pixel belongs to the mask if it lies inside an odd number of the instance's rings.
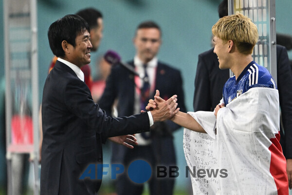
[[149,131],[147,113],[130,117],[107,117],[105,111],[94,103],[85,83],[78,79],[69,82],[63,94],[69,111],[84,121],[89,129],[101,134],[103,139]]

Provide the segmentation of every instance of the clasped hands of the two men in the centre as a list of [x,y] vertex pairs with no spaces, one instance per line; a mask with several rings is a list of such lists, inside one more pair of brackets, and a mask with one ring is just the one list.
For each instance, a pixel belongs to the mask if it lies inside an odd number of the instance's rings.
[[146,110],[151,112],[154,122],[170,119],[180,110],[180,108],[177,108],[177,95],[172,96],[166,101],[159,97],[159,95],[159,90],[156,90],[154,99],[150,99],[146,106]]

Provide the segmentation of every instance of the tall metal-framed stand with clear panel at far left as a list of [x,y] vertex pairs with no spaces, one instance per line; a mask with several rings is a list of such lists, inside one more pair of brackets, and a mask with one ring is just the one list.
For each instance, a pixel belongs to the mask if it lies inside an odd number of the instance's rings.
[[[39,194],[38,185],[38,154],[39,154],[39,129],[38,129],[38,59],[37,59],[37,0],[3,0],[4,18],[4,56],[5,56],[5,121],[6,121],[6,159],[7,159],[7,194],[14,195],[12,156],[13,154],[31,155],[34,165],[34,195]],[[29,31],[30,28],[30,31]],[[22,39],[18,34],[24,33]],[[18,36],[16,36],[18,35]],[[22,35],[22,34],[21,34]],[[17,51],[15,51],[17,50]],[[18,82],[16,82],[18,81]],[[24,84],[23,84],[24,82]],[[25,85],[27,82],[28,85]],[[14,90],[14,91],[13,91]],[[31,100],[33,141],[12,141],[12,118],[23,115],[15,111],[18,108],[16,90],[24,97],[23,102],[29,104]],[[22,90],[25,93],[21,93]],[[14,92],[14,93],[13,93]],[[19,91],[17,91],[19,92]],[[18,94],[19,95],[19,94]],[[19,96],[18,96],[19,97]],[[29,106],[26,105],[27,108]],[[31,116],[30,116],[31,115]],[[13,117],[14,116],[14,117]],[[25,117],[25,116],[24,116]],[[21,119],[20,119],[21,120]],[[22,129],[22,127],[19,127]],[[24,127],[23,127],[24,129]],[[30,128],[31,129],[31,128]],[[15,134],[15,132],[14,132]],[[23,134],[20,134],[21,136]],[[27,136],[26,134],[24,134]],[[17,177],[16,177],[17,178]]]

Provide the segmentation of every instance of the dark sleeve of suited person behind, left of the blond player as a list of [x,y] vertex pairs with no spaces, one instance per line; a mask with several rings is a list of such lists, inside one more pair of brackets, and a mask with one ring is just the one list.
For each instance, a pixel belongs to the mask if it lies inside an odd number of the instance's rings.
[[210,80],[207,70],[206,61],[201,55],[198,57],[198,65],[195,78],[195,92],[193,107],[194,111],[210,111],[211,97],[210,97]]

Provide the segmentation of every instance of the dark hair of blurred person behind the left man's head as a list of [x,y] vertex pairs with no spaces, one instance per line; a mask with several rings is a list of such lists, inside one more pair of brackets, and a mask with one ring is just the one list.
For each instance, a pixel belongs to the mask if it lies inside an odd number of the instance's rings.
[[97,27],[97,19],[102,18],[101,12],[94,8],[82,9],[78,11],[76,15],[82,17],[85,21],[87,21],[90,29]]

